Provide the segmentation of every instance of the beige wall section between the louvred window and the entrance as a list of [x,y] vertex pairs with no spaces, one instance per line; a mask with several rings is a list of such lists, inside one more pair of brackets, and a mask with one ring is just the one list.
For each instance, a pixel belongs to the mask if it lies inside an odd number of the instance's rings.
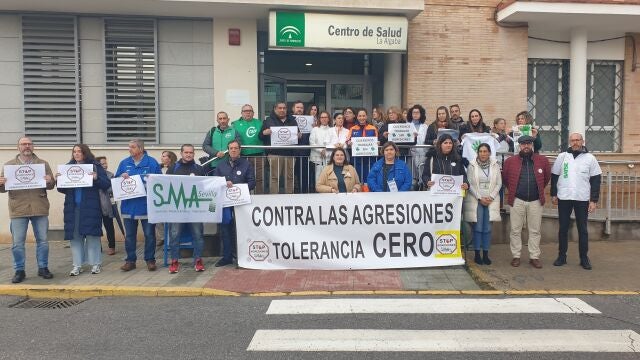
[[[240,46],[230,46],[229,29],[240,29]],[[213,21],[214,112],[226,111],[230,119],[240,117],[245,103],[258,112],[258,33],[255,20]],[[244,100],[242,99],[244,98]]]

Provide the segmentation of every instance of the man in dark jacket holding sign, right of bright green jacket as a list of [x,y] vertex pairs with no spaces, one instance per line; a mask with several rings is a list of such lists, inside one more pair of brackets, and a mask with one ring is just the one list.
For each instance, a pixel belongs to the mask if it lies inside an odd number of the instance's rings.
[[[272,134],[276,131],[275,134]],[[260,131],[260,139],[265,145],[271,146],[272,135],[279,135],[280,131],[283,136],[296,136],[297,139],[302,137],[302,133],[297,130],[296,134],[286,134],[288,129],[295,127],[298,129],[298,122],[292,115],[287,115],[287,103],[278,101],[273,107],[273,111],[269,118],[262,124]],[[295,163],[295,150],[293,149],[267,149],[267,158],[269,159],[269,171],[271,180],[269,181],[269,192],[277,194],[280,192],[280,176],[284,178],[285,193],[293,194],[293,168]]]

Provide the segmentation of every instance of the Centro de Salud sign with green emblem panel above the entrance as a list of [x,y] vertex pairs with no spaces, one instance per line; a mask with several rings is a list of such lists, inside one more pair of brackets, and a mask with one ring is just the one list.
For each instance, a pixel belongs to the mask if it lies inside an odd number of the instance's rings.
[[401,16],[269,13],[270,49],[406,52],[407,37]]

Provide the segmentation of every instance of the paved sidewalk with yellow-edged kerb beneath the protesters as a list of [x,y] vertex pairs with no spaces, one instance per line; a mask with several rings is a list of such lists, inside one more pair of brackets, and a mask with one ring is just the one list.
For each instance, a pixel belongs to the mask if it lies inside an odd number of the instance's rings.
[[[11,284],[13,276],[11,246],[0,245],[0,295],[31,297],[86,296],[204,296],[204,295],[331,295],[331,294],[531,294],[531,293],[627,293],[640,294],[640,242],[608,241],[590,244],[594,269],[578,266],[577,244],[570,243],[569,264],[552,265],[557,248],[542,245],[542,269],[528,264],[525,254],[522,265],[509,265],[508,244],[492,247],[493,264],[478,266],[473,254],[467,259],[470,272],[463,266],[446,268],[319,271],[319,270],[247,270],[233,266],[214,267],[217,258],[205,258],[206,271],[196,273],[191,259],[183,259],[178,274],[169,274],[162,266],[162,248],[158,248],[158,270],[149,272],[144,261],[138,268],[123,272],[124,249],[117,244],[114,256],[104,255],[103,271],[92,275],[85,266],[80,276],[70,277],[71,251],[66,241],[50,242],[49,269],[52,280],[37,276],[35,248],[27,245],[27,279]],[[138,257],[142,248],[138,249]],[[477,280],[477,283],[476,281]],[[496,291],[497,290],[497,291]]]

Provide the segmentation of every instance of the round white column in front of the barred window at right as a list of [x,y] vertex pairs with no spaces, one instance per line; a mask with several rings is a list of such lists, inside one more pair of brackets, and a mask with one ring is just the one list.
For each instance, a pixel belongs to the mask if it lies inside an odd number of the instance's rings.
[[569,133],[584,136],[587,102],[587,30],[571,30],[569,67]]

